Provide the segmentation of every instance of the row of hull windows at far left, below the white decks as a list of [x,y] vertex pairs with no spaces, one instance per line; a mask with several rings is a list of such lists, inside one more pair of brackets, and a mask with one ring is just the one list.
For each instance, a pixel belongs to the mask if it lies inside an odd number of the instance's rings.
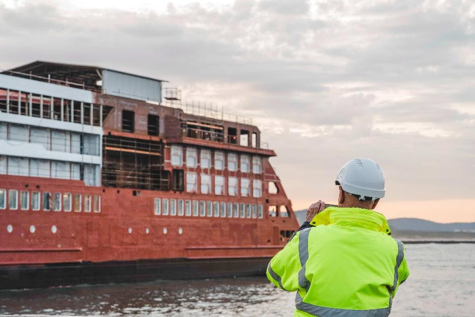
[[21,210],[29,210],[30,208],[31,210],[40,210],[42,208],[44,211],[53,209],[54,211],[81,212],[84,208],[84,212],[91,212],[92,208],[95,213],[101,212],[100,195],[61,194],[60,192],[51,194],[48,191],[42,192],[41,195],[39,191],[32,191],[30,202],[30,192],[27,190],[9,189],[7,200],[7,190],[0,189],[0,209],[6,209],[7,202],[10,210],[17,210],[20,207]]

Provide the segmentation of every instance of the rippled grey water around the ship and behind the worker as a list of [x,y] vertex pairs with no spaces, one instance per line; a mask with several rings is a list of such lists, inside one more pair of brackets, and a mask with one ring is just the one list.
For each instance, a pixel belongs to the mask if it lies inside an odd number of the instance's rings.
[[[392,316],[472,316],[475,245],[406,245],[411,276]],[[0,313],[105,316],[291,316],[293,293],[265,277],[0,292]]]

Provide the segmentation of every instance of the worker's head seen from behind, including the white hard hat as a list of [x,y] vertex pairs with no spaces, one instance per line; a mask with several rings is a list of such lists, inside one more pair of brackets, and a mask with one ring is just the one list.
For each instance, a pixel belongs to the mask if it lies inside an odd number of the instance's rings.
[[370,159],[355,159],[340,169],[338,207],[374,209],[384,197],[384,175],[379,165]]

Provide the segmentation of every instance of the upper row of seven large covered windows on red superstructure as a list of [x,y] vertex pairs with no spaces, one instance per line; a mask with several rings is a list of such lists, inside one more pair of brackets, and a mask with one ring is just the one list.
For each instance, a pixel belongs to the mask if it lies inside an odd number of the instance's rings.
[[[200,167],[202,169],[211,168],[211,150],[209,149],[200,149]],[[228,153],[228,170],[231,172],[236,172],[238,170],[238,154],[237,153]],[[186,147],[186,166],[195,168],[198,166],[198,149],[196,147]],[[247,154],[241,154],[239,160],[239,170],[242,173],[250,172],[250,156]],[[173,166],[182,166],[183,165],[183,149],[181,145],[172,145],[171,146],[171,165]],[[225,169],[225,154],[223,151],[214,151],[214,169],[224,170]],[[252,156],[252,173],[261,174],[262,173],[262,159],[260,156]]]

